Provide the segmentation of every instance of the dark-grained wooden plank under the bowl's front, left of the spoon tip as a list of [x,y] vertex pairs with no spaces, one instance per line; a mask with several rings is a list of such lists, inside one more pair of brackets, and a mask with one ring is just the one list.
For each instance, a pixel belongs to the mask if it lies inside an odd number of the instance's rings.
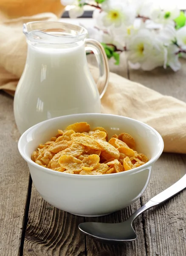
[[85,256],[85,236],[78,229],[84,222],[52,207],[34,185],[25,233],[24,256]]

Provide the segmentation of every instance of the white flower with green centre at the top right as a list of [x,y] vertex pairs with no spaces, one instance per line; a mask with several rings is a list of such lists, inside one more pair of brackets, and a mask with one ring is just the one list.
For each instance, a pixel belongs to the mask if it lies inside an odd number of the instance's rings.
[[163,10],[154,9],[151,13],[151,18],[155,23],[171,24],[174,26],[174,19],[180,15],[180,10],[177,7],[169,7]]

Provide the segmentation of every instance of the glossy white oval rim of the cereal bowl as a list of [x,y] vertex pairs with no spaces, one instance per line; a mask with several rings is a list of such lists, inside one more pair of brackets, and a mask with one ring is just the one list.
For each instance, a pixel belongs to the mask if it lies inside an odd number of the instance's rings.
[[[34,128],[36,128],[37,126],[39,125],[42,125],[42,124],[45,124],[47,122],[52,122],[52,120],[56,120],[56,119],[61,119],[63,117],[74,117],[74,116],[85,116],[85,115],[91,115],[91,116],[95,116],[95,115],[104,115],[104,116],[115,116],[115,117],[119,117],[119,118],[124,118],[124,119],[129,119],[129,120],[132,120],[132,121],[135,121],[135,122],[138,122],[140,123],[141,125],[144,125],[145,127],[149,128],[151,131],[153,131],[155,133],[155,135],[158,137],[158,140],[160,142],[160,148],[159,148],[159,151],[158,151],[158,154],[155,155],[155,157],[153,157],[152,159],[150,159],[147,163],[145,163],[144,165],[142,166],[139,166],[139,167],[136,167],[134,169],[131,169],[131,170],[127,170],[127,171],[124,171],[124,172],[118,172],[118,173],[111,173],[111,174],[107,174],[107,175],[74,175],[74,174],[70,174],[70,173],[64,173],[64,172],[57,172],[55,170],[52,170],[52,169],[48,169],[44,166],[40,166],[39,164],[35,163],[34,161],[31,160],[31,157],[28,157],[27,155],[25,155],[23,153],[23,150],[22,150],[22,147],[21,147],[21,143],[22,143],[22,140],[24,140],[24,137],[30,133],[32,130],[34,130]],[[143,171],[144,169],[147,169],[149,166],[152,166],[153,163],[156,162],[156,160],[158,160],[158,158],[161,156],[162,152],[163,152],[163,148],[164,148],[164,143],[163,143],[163,139],[161,137],[161,135],[158,133],[158,131],[156,131],[154,128],[152,128],[150,125],[147,125],[146,123],[144,122],[141,122],[141,121],[138,121],[136,119],[133,119],[133,118],[130,118],[130,117],[126,117],[126,116],[119,116],[119,115],[113,115],[113,114],[104,114],[104,113],[81,113],[81,114],[72,114],[72,115],[66,115],[66,116],[58,116],[58,117],[54,117],[54,118],[51,118],[51,119],[47,119],[45,121],[42,121],[42,122],[39,122],[37,123],[36,125],[33,125],[31,126],[30,128],[28,128],[20,137],[19,141],[18,141],[18,150],[20,152],[20,155],[23,157],[23,159],[31,164],[32,166],[34,166],[35,168],[37,169],[40,169],[42,172],[47,172],[48,174],[51,174],[51,175],[57,175],[57,176],[64,176],[64,177],[71,177],[71,178],[84,178],[84,179],[89,179],[89,178],[111,178],[111,177],[119,177],[121,175],[132,175],[136,172],[141,172]]]

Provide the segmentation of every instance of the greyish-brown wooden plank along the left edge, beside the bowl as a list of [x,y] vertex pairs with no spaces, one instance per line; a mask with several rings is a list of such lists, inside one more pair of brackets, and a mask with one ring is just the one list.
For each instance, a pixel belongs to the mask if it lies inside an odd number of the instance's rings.
[[13,98],[0,93],[0,256],[18,256],[29,171],[20,156]]

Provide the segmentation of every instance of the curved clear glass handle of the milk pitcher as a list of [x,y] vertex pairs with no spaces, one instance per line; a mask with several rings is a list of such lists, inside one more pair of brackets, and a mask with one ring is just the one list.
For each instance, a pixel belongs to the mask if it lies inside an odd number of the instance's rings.
[[93,39],[85,40],[85,50],[92,51],[98,62],[99,67],[99,79],[97,81],[97,87],[100,94],[100,99],[103,97],[105,91],[107,90],[109,81],[109,65],[107,61],[107,55],[104,51],[102,45]]

